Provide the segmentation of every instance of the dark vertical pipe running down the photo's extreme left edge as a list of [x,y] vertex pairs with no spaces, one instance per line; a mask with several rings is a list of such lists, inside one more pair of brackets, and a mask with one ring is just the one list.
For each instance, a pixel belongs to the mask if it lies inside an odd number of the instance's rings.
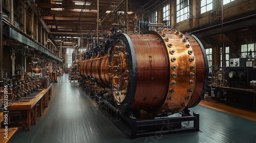
[[0,2],[0,80],[3,79],[3,0]]

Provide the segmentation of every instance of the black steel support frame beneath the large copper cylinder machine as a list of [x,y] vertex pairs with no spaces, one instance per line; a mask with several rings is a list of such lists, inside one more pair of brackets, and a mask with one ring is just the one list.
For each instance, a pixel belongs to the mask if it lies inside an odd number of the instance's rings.
[[[179,117],[169,117],[169,118],[158,118],[151,120],[137,120],[136,117],[131,117],[127,113],[121,113],[110,102],[104,98],[100,98],[99,95],[91,93],[88,89],[80,85],[87,93],[90,94],[91,98],[95,98],[96,102],[103,103],[104,108],[111,109],[111,113],[101,108],[101,111],[108,115],[112,122],[130,139],[139,139],[153,136],[167,136],[167,135],[176,135],[184,133],[195,133],[199,132],[199,113],[193,113],[193,115],[179,116]],[[172,128],[175,124],[180,124],[182,122],[191,122],[193,121],[193,127],[188,128]],[[160,130],[157,131],[138,131],[138,128],[141,127],[150,127],[158,126]]]

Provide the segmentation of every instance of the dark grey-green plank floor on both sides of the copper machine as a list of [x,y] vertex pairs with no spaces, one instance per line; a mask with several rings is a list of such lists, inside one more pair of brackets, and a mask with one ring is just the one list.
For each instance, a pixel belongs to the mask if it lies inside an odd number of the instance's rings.
[[58,77],[45,116],[9,142],[256,142],[256,122],[200,105],[191,110],[200,113],[202,132],[130,141],[77,85]]

